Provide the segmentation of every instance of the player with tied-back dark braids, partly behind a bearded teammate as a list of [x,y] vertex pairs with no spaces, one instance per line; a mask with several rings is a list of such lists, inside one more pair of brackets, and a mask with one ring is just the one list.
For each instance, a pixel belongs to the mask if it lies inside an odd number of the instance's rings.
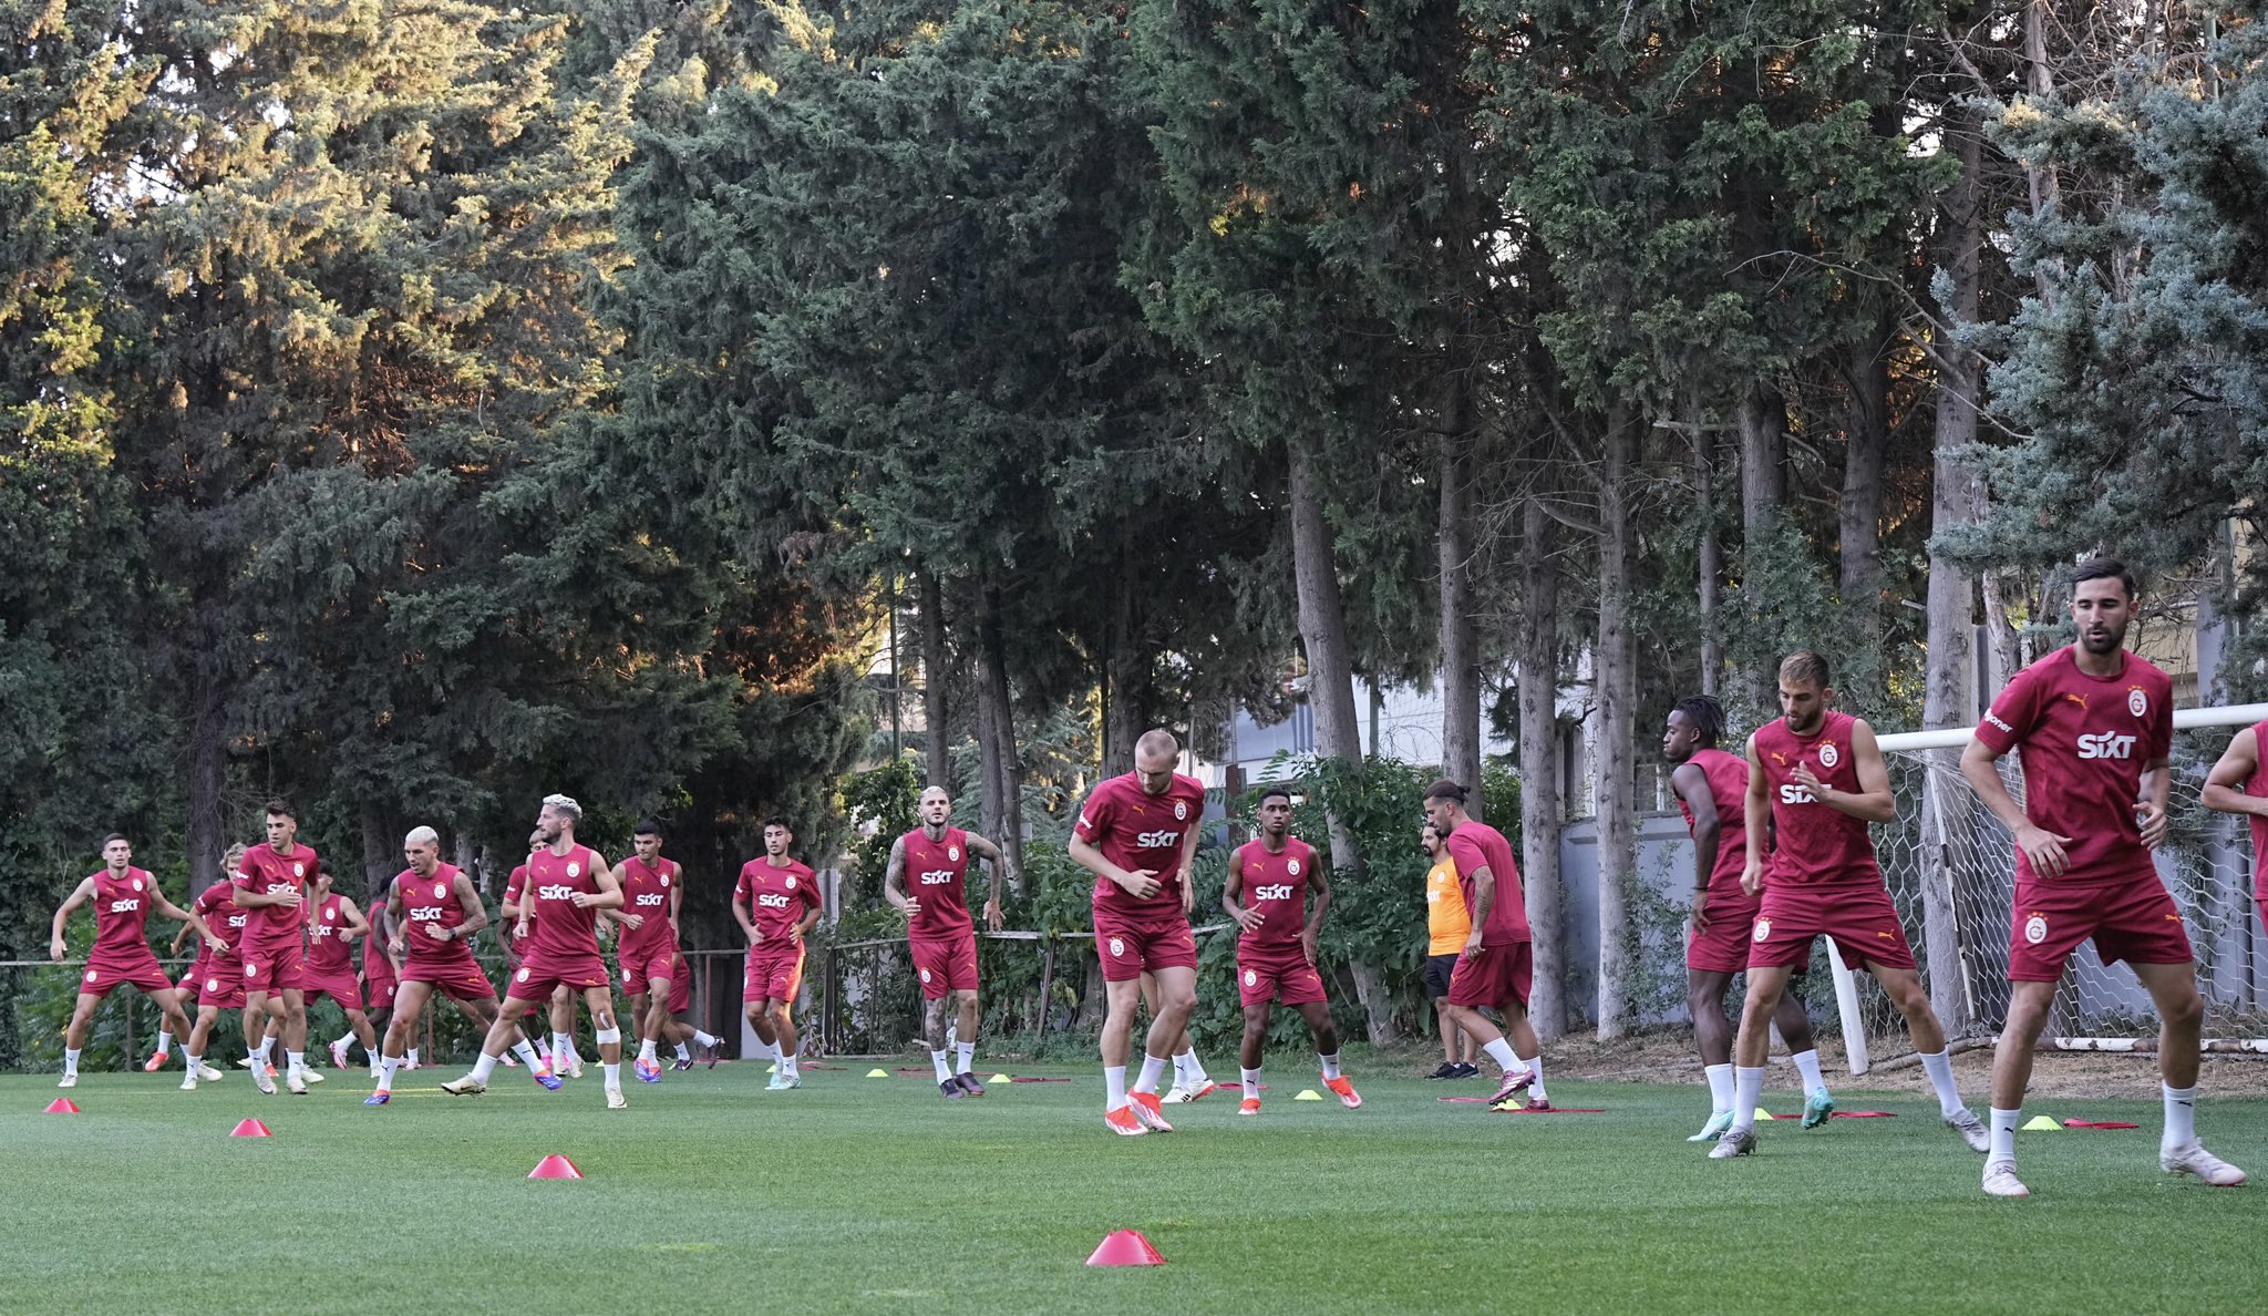
[[[1685,1012],[1694,1021],[1694,1044],[1701,1048],[1701,1071],[1708,1075],[1710,1116],[1701,1132],[1685,1141],[1717,1141],[1733,1125],[1733,1021],[1724,1012],[1724,992],[1733,976],[1749,967],[1749,935],[1755,930],[1758,899],[1742,889],[1740,874],[1749,867],[1749,765],[1737,753],[1717,749],[1724,735],[1724,708],[1708,694],[1681,699],[1669,710],[1662,731],[1662,758],[1676,765],[1669,787],[1678,792],[1678,812],[1694,837],[1694,930],[1685,944]],[[1826,1075],[1819,1073],[1819,1051],[1812,1041],[1812,1016],[1794,992],[1780,994],[1771,1016],[1794,1053],[1803,1075],[1803,1128],[1819,1128],[1835,1114]]]

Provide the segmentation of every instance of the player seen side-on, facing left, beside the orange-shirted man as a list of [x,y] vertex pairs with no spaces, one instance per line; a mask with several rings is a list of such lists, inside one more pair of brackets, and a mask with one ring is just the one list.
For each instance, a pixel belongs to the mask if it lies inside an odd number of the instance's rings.
[[[1472,930],[1465,933],[1465,948],[1458,951],[1456,971],[1449,973],[1449,1014],[1504,1071],[1504,1082],[1488,1098],[1490,1110],[1513,1110],[1513,1100],[1526,1089],[1529,1100],[1520,1110],[1545,1112],[1551,1110],[1551,1098],[1545,1094],[1545,1055],[1529,1023],[1535,935],[1529,930],[1520,864],[1513,862],[1513,844],[1504,833],[1474,821],[1465,799],[1470,799],[1467,787],[1449,778],[1436,781],[1424,792],[1427,821],[1440,833],[1442,849],[1456,864],[1465,908],[1472,910]],[[1501,1012],[1506,1028],[1497,1030],[1481,1010]],[[1522,1051],[1526,1055],[1520,1055]]]

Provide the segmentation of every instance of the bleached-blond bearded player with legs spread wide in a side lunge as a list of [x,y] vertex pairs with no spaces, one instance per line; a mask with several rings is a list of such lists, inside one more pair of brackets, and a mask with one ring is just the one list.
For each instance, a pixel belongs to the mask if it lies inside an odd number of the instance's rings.
[[[544,796],[544,805],[535,815],[535,830],[544,844],[528,855],[528,889],[519,905],[519,928],[533,926],[533,933],[526,933],[528,958],[503,992],[503,1012],[490,1023],[488,1041],[481,1044],[481,1060],[472,1064],[472,1073],[440,1085],[449,1096],[488,1091],[488,1075],[497,1071],[497,1057],[519,1032],[519,1016],[565,985],[581,992],[590,1007],[592,1032],[599,1039],[599,1066],[606,1073],[606,1107],[628,1105],[621,1096],[621,1026],[615,1019],[612,976],[606,971],[606,960],[599,958],[599,912],[621,908],[621,883],[615,880],[615,869],[599,858],[599,851],[576,844],[578,821],[583,821],[583,805],[574,796]],[[528,1062],[533,1064],[533,1060]]]

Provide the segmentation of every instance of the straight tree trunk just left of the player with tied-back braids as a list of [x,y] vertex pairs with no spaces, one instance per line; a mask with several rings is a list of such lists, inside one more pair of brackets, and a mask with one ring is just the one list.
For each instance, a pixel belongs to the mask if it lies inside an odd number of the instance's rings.
[[1637,644],[1631,635],[1631,479],[1637,422],[1613,408],[1599,472],[1599,1039],[1628,1026],[1631,892],[1637,887]]

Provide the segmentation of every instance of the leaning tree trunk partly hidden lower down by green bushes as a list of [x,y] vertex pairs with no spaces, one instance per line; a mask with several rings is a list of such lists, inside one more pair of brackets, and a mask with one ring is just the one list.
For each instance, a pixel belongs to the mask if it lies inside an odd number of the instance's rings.
[[[1290,554],[1293,579],[1300,592],[1300,642],[1306,649],[1306,701],[1315,715],[1315,753],[1361,762],[1361,726],[1354,719],[1354,658],[1347,644],[1347,608],[1338,594],[1338,554],[1331,547],[1331,526],[1322,515],[1322,490],[1315,481],[1315,454],[1306,438],[1288,442],[1290,454]],[[1331,871],[1359,878],[1363,855],[1354,846],[1354,833],[1336,812],[1327,817],[1331,830]],[[1377,964],[1349,964],[1356,982],[1363,973],[1379,973]],[[1390,1012],[1365,1010],[1370,1044],[1395,1041]]]

